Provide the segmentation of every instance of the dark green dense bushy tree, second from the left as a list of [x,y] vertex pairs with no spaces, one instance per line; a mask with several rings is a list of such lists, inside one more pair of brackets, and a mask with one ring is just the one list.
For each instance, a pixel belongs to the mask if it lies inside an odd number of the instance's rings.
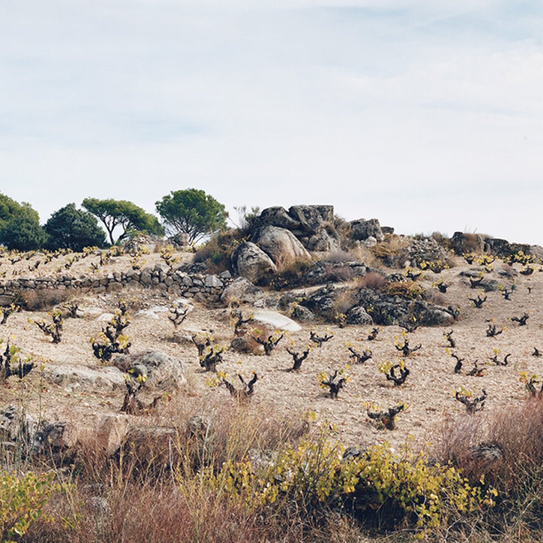
[[68,204],[55,211],[43,227],[49,236],[49,249],[72,249],[82,251],[84,247],[102,247],[105,232],[98,226],[96,217],[89,211],[76,209]]

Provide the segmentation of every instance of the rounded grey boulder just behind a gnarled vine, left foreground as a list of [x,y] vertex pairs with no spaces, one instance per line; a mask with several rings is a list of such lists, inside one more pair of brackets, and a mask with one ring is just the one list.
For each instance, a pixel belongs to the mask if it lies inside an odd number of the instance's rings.
[[145,351],[136,355],[119,355],[113,364],[133,377],[144,375],[148,390],[170,390],[187,382],[187,367],[179,359],[161,351]]

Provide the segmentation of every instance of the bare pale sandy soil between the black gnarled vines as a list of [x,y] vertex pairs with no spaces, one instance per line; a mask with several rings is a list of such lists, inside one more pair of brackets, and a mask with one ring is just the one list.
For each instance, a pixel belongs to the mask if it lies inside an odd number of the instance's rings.
[[[160,260],[158,255],[146,258],[149,263]],[[129,257],[117,258],[111,266],[126,266],[129,261]],[[78,264],[81,264],[81,270],[78,271],[88,273],[88,262]],[[495,264],[497,269],[502,266],[501,261]],[[9,263],[4,264],[2,269],[9,269],[9,266]],[[515,267],[520,269],[518,264]],[[387,440],[392,446],[398,447],[409,434],[424,441],[437,439],[432,427],[439,424],[443,416],[466,416],[464,406],[453,399],[454,390],[464,387],[478,395],[484,388],[488,392],[485,411],[489,411],[526,398],[525,386],[519,382],[521,371],[543,374],[543,358],[532,356],[534,347],[543,351],[543,274],[536,269],[532,276],[515,277],[516,290],[511,300],[505,300],[500,292],[489,292],[487,302],[481,309],[477,309],[472,307],[468,300],[470,297],[476,298],[477,291],[470,289],[465,277],[459,276],[460,271],[469,268],[475,267],[463,264],[441,274],[451,284],[444,295],[445,305],[458,305],[461,310],[460,319],[452,326],[453,337],[457,343],[453,352],[465,358],[460,375],[453,373],[455,361],[445,352],[447,342],[443,337],[442,327],[420,328],[409,334],[411,346],[420,343],[422,347],[405,359],[411,374],[401,387],[392,386],[377,369],[383,361],[397,363],[400,360],[395,342],[402,339],[402,329],[397,326],[384,327],[377,339],[369,342],[367,336],[371,326],[347,326],[339,329],[336,325],[319,324],[316,327],[317,332],[324,335],[329,331],[333,333],[333,339],[320,349],[314,348],[299,372],[287,372],[285,369],[292,366],[292,357],[286,352],[286,346],[289,346],[292,340],[294,348],[301,350],[309,343],[310,331],[315,329],[312,324],[304,324],[302,331],[289,334],[288,338],[283,339],[272,356],[241,355],[229,351],[225,353],[224,363],[218,369],[230,376],[238,372],[250,376],[252,371],[257,372],[259,379],[249,409],[295,415],[313,411],[317,413],[319,420],[337,425],[338,438],[346,446],[368,445]],[[495,272],[485,276],[498,279],[504,286],[513,283],[513,280],[503,279]],[[431,288],[432,281],[436,278],[433,273],[427,273],[422,279],[422,285]],[[528,292],[528,287],[532,287],[531,293]],[[168,306],[173,299],[172,296],[151,290],[125,292],[123,296],[128,300],[138,298],[138,304],[143,307]],[[98,306],[104,308],[104,311],[112,311],[116,301],[117,295],[104,294],[82,298],[81,306]],[[529,313],[527,326],[519,326],[509,320],[510,317],[520,317],[525,312]],[[28,323],[29,317],[39,319],[42,316],[45,317],[46,313],[21,312],[11,315],[8,323],[0,327],[0,338],[5,341],[14,336],[12,343],[21,346],[23,352],[31,353],[45,365],[99,367],[98,360],[92,354],[89,338],[100,332],[104,323],[96,318],[66,319],[62,342],[53,345],[37,326]],[[485,333],[489,321],[493,321],[498,329],[507,326],[507,330],[495,338],[489,338]],[[183,326],[190,332],[212,330],[212,336],[221,344],[228,344],[233,337],[224,309],[210,310],[197,305]],[[187,386],[173,394],[175,402],[185,406],[193,404],[195,409],[203,404],[208,408],[217,406],[217,409],[220,409],[224,402],[232,401],[225,387],[207,386],[206,381],[211,374],[202,372],[199,367],[194,345],[173,342],[173,325],[167,319],[166,312],[159,313],[158,320],[135,317],[132,313],[131,324],[126,331],[132,342],[131,353],[148,349],[161,350],[187,364]],[[346,350],[348,343],[352,343],[358,351],[371,349],[373,357],[363,365],[350,364],[348,372],[351,381],[340,392],[339,399],[332,400],[325,390],[319,388],[317,376],[320,371],[331,372],[351,362]],[[498,367],[490,362],[490,358],[494,356],[493,349],[500,349],[500,359],[511,353],[506,367]],[[466,375],[475,359],[478,359],[479,367],[485,368],[486,375]],[[93,414],[118,413],[122,405],[122,389],[73,390],[72,387],[45,382],[42,393],[39,394],[39,371],[31,372],[27,379],[24,392],[14,377],[9,380],[9,388],[0,388],[0,407],[24,395],[23,401],[29,411],[41,410],[46,419],[72,420],[85,425],[92,420]],[[387,431],[378,428],[368,419],[364,402],[381,408],[405,402],[409,407],[400,414],[397,429]],[[166,404],[160,404],[159,414],[161,410],[166,412],[168,409]],[[171,409],[168,412],[171,412]]]

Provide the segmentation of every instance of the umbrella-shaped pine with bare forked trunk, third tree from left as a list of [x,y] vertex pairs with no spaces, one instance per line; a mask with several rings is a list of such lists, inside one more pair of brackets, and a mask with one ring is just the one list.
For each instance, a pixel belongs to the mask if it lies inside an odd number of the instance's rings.
[[111,244],[115,243],[113,242],[113,230],[117,226],[121,226],[123,229],[117,242],[129,237],[130,233],[134,231],[156,236],[164,235],[164,229],[158,219],[130,201],[113,200],[112,198],[107,200],[85,198],[82,205],[104,223]]

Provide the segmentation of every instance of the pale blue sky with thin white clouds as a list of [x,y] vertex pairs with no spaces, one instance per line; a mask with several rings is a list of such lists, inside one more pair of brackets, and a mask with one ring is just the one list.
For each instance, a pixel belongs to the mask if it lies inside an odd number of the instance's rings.
[[42,223],[194,187],[543,245],[539,0],[2,0],[0,74]]

